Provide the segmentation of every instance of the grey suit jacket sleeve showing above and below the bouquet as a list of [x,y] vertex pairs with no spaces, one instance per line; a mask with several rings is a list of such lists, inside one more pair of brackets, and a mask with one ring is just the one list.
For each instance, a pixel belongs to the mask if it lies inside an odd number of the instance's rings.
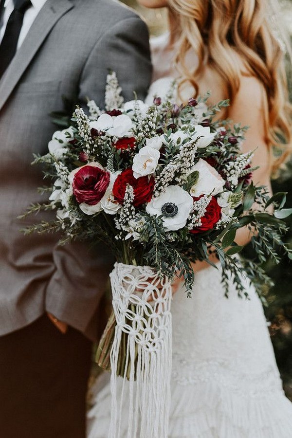
[[[81,101],[89,97],[103,107],[109,69],[117,73],[126,100],[133,98],[133,91],[141,99],[146,97],[152,74],[148,31],[134,14],[95,43],[80,78]],[[114,258],[101,242],[95,256],[89,255],[86,244],[73,242],[56,246],[53,257],[56,269],[46,290],[46,310],[85,332],[106,289]]]

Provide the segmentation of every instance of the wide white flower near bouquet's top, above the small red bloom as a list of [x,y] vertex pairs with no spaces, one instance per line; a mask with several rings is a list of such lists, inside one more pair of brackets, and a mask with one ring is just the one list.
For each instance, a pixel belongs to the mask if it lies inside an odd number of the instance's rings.
[[97,120],[90,122],[90,127],[98,131],[104,131],[110,137],[129,137],[133,133],[129,132],[132,128],[132,121],[125,114],[112,117],[110,114],[102,114]]

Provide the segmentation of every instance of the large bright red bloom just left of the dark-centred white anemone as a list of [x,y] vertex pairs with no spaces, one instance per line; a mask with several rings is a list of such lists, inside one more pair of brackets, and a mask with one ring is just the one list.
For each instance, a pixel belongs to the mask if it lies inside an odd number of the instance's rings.
[[133,170],[128,168],[118,175],[112,188],[114,199],[119,204],[124,204],[124,197],[127,185],[131,185],[134,189],[134,201],[135,207],[139,207],[145,202],[150,202],[154,189],[154,178],[148,176],[134,178]]

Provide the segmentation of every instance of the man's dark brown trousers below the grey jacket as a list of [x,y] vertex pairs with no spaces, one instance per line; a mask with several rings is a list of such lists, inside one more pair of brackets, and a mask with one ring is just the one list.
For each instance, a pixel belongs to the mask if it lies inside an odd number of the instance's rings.
[[85,438],[91,342],[43,315],[0,337],[0,438]]

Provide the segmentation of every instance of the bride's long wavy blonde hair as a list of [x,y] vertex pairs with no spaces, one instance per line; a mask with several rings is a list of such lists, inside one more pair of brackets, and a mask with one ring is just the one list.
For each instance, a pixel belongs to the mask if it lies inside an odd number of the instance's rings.
[[[180,47],[176,62],[185,80],[198,93],[196,78],[207,64],[219,73],[231,105],[240,84],[240,63],[263,84],[266,141],[282,149],[276,170],[291,154],[292,111],[289,104],[284,52],[267,20],[267,0],[169,0],[178,20]],[[193,48],[198,67],[189,71],[185,55]],[[253,103],[251,102],[251,105]]]

